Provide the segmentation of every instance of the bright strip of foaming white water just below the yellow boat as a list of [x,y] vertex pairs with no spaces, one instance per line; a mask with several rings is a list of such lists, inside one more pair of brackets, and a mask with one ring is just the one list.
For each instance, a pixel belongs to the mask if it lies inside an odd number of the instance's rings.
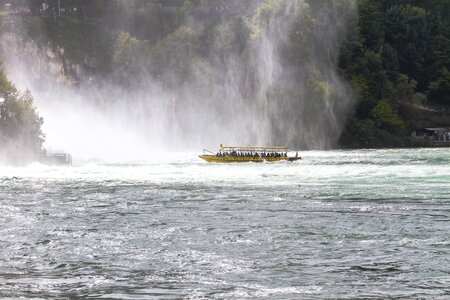
[[[207,163],[199,153],[157,153],[133,163],[75,162],[71,167],[32,164],[1,167],[7,178],[117,181],[127,184],[232,186],[450,186],[450,156],[443,149],[305,151],[302,160],[278,163]],[[292,155],[292,153],[291,153]],[[438,159],[438,160],[436,160]],[[377,191],[376,193],[382,193]]]

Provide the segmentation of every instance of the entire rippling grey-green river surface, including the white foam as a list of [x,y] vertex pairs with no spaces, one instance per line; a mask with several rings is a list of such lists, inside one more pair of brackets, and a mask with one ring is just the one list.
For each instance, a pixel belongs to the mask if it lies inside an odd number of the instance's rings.
[[0,298],[450,298],[450,149],[0,167]]

